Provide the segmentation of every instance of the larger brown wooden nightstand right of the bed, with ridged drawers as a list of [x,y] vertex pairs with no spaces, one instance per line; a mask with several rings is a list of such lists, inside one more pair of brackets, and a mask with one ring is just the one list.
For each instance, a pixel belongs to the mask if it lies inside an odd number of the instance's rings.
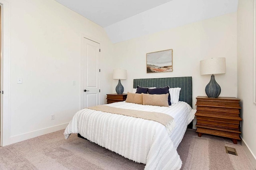
[[240,99],[229,97],[208,98],[198,96],[196,101],[196,132],[232,139],[234,144],[240,140],[239,117]]

